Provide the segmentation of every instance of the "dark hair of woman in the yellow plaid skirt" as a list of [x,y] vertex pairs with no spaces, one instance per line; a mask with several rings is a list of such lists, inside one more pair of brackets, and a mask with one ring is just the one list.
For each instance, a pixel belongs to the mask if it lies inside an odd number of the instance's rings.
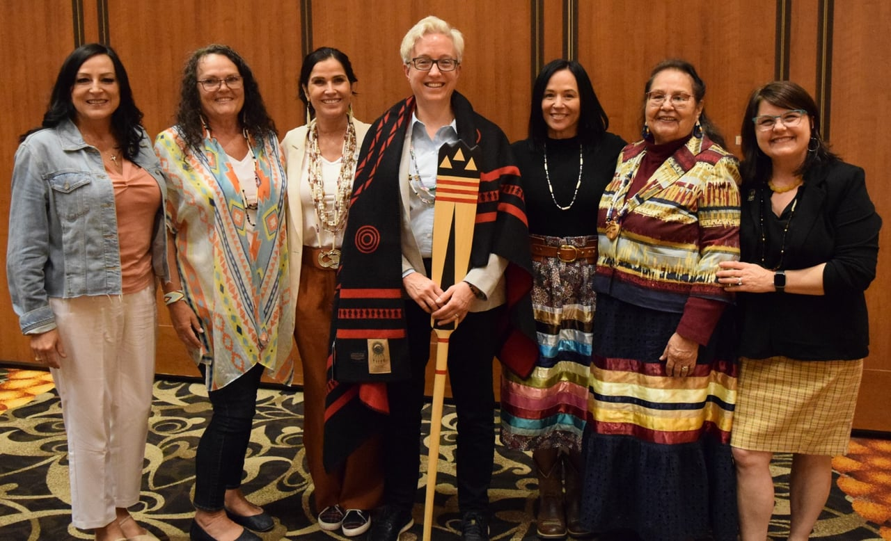
[[[758,114],[762,101],[782,109],[805,109],[811,123],[811,141],[808,141],[808,152],[805,161],[796,170],[796,174],[804,175],[808,169],[818,164],[838,160],[838,156],[830,152],[829,145],[820,136],[820,109],[807,91],[791,81],[773,81],[757,88],[748,98],[746,113],[742,117],[742,157],[740,174],[746,182],[767,182],[771,178],[773,162],[758,147],[755,123],[752,118]],[[813,144],[813,141],[817,142]],[[812,147],[816,149],[811,149]]]

